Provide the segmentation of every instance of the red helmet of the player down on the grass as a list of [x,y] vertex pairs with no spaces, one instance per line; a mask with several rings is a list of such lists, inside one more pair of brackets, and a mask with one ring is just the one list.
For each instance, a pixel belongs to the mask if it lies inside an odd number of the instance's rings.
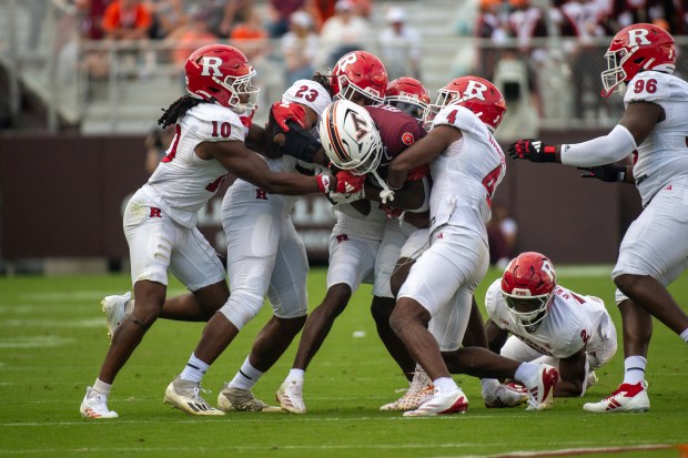
[[516,256],[502,276],[502,295],[510,317],[526,328],[536,328],[545,318],[557,285],[552,261],[527,252]]

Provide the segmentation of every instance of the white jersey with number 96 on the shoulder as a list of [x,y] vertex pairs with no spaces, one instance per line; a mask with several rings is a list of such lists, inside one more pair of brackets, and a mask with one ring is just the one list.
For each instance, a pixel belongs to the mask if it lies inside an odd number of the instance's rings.
[[638,145],[634,176],[646,206],[672,180],[688,176],[688,83],[657,71],[638,73],[626,89],[624,104],[652,102],[666,119]]

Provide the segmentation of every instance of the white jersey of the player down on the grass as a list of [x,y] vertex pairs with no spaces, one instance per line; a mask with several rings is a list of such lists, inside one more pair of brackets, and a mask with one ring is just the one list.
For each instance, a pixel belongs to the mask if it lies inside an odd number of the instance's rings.
[[613,326],[605,303],[598,297],[578,295],[561,286],[554,289],[547,316],[534,333],[512,319],[502,295],[502,278],[497,278],[485,295],[487,316],[502,329],[508,330],[537,352],[556,358],[568,358],[587,343],[586,353],[604,348]]

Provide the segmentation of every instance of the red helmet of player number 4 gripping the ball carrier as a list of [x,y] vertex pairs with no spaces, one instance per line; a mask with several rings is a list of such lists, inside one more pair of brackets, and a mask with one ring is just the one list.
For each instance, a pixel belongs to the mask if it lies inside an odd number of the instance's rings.
[[437,102],[428,106],[424,121],[431,122],[443,106],[453,103],[474,112],[493,132],[506,112],[504,96],[493,83],[479,77],[461,77],[437,91]]

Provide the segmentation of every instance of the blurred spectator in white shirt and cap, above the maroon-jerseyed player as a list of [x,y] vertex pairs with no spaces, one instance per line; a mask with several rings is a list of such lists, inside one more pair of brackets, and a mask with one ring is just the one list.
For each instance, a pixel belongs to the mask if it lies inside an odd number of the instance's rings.
[[406,11],[389,7],[387,27],[380,33],[380,57],[389,80],[411,75],[421,79],[421,35],[406,24]]

